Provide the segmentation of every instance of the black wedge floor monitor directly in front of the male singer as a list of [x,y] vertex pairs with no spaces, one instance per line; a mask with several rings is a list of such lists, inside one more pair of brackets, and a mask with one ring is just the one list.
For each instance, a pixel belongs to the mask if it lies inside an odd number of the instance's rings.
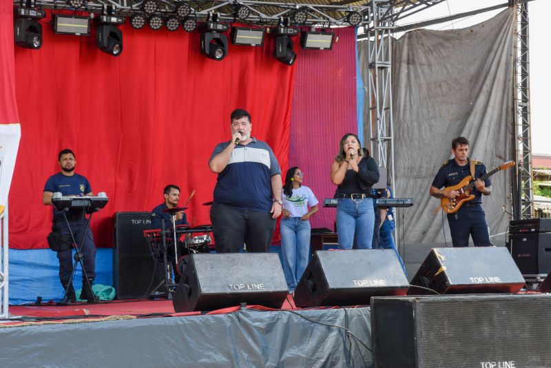
[[174,311],[211,311],[240,303],[280,308],[289,294],[275,253],[191,254],[172,299]]

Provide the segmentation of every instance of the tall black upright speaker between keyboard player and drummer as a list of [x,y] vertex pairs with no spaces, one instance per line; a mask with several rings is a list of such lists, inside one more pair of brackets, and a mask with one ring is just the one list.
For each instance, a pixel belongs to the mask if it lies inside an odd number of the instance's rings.
[[155,263],[143,230],[151,212],[116,212],[113,221],[113,278],[118,299],[147,297],[158,285]]

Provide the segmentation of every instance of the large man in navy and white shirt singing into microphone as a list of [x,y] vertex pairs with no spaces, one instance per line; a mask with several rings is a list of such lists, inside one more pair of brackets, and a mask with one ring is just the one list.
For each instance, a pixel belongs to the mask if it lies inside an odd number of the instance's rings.
[[209,161],[218,174],[211,207],[216,252],[268,252],[282,210],[281,169],[267,143],[251,136],[251,115],[231,113],[231,140],[219,143]]

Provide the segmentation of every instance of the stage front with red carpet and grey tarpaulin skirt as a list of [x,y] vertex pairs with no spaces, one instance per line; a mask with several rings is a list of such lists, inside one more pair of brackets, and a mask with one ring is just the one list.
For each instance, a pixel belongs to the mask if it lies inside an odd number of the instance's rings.
[[141,299],[10,313],[1,367],[372,367],[369,307],[296,309],[291,295],[279,310]]

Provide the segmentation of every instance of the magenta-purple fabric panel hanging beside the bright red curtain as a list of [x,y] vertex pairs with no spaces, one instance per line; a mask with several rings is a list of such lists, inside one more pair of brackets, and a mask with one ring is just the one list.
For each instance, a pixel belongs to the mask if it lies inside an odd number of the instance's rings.
[[320,201],[311,226],[329,229],[333,229],[336,209],[322,204],[336,190],[331,164],[342,136],[357,134],[354,28],[335,30],[335,41],[333,50],[300,50],[298,54],[289,137],[289,167],[302,169],[304,185]]

